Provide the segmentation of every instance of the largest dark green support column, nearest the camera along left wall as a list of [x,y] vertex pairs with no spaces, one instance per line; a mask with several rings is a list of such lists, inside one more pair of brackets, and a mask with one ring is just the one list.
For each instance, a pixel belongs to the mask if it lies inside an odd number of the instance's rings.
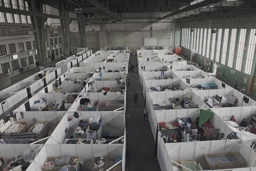
[[[41,2],[33,0],[28,0],[29,8],[34,12],[41,11],[42,12],[42,4]],[[40,66],[47,65],[47,45],[46,41],[48,40],[48,32],[47,29],[44,29],[44,23],[47,21],[47,18],[40,18],[31,16],[32,28],[34,31],[35,43],[37,47],[37,55],[39,59]]]

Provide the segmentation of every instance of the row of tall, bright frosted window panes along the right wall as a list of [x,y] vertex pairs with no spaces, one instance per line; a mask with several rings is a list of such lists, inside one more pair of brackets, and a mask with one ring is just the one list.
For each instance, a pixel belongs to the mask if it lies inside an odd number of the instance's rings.
[[[243,56],[244,53],[246,53],[244,72],[246,74],[250,74],[252,70],[253,56],[255,53],[256,36],[254,36],[254,34],[256,29],[250,29],[247,33],[249,34],[249,45],[246,50],[244,50],[246,29],[240,29],[239,32],[237,29],[218,29],[217,32],[217,34],[211,34],[211,29],[194,29],[194,32],[190,33],[189,28],[183,28],[181,34],[181,46],[188,49],[195,48],[197,54],[220,62],[223,65],[226,64],[227,59],[227,66],[232,68],[236,41],[238,41],[236,63],[234,67],[236,70],[241,71]],[[228,42],[230,42],[230,46],[227,51]],[[215,46],[216,54],[214,59]]]

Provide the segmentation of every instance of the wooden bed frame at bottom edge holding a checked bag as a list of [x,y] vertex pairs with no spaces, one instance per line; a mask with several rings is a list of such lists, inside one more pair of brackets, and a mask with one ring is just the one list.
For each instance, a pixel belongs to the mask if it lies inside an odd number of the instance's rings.
[[[43,171],[59,171],[61,169],[61,167],[63,167],[63,166],[45,167],[45,163],[47,163],[49,161],[54,162],[54,160],[55,160],[55,157],[47,157],[44,164],[42,165],[42,170]],[[75,170],[76,171],[80,170],[80,159],[79,159],[79,157],[70,157],[70,162],[71,163],[74,163],[74,162],[76,163],[75,164]]]

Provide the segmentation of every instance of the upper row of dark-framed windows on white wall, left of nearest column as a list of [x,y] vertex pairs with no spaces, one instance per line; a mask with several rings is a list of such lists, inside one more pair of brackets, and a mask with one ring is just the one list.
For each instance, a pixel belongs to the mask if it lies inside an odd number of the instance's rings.
[[[36,48],[35,47],[35,41],[33,41],[33,46],[34,46],[34,48]],[[32,49],[31,42],[26,42],[26,49],[27,50],[31,50]],[[10,51],[10,54],[16,53],[15,43],[9,44],[9,51]],[[24,44],[23,44],[23,42],[18,43],[18,51],[19,52],[24,51]],[[2,56],[2,55],[7,55],[6,46],[5,45],[0,45],[0,56]]]

